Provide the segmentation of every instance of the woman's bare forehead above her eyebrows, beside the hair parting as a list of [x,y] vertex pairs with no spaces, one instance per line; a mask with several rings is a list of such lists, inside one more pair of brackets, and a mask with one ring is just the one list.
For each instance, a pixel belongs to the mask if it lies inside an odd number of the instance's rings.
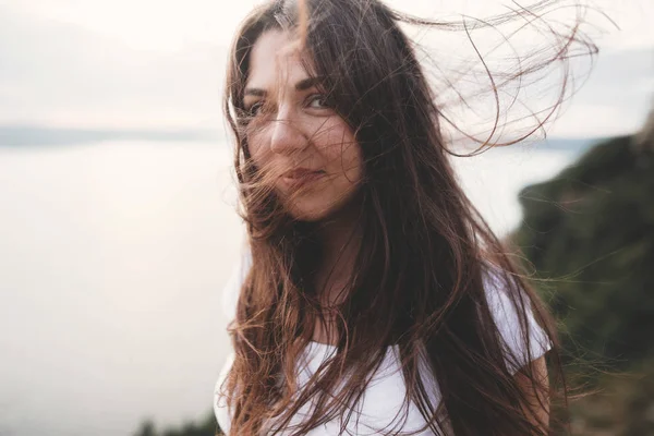
[[252,48],[245,85],[263,89],[291,86],[308,76],[303,61],[306,60],[288,32],[267,31]]

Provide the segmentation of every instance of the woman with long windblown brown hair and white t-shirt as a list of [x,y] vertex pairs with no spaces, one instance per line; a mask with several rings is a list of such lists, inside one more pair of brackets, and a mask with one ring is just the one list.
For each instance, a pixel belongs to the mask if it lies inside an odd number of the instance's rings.
[[230,435],[547,434],[553,323],[457,184],[400,20],[277,0],[237,35]]

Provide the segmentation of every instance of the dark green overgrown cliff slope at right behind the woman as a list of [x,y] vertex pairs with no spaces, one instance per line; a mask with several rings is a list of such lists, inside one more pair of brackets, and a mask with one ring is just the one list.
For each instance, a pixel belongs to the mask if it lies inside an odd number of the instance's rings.
[[653,152],[642,135],[603,142],[520,195],[512,240],[544,279],[571,378],[601,391],[572,404],[576,434],[654,435]]

